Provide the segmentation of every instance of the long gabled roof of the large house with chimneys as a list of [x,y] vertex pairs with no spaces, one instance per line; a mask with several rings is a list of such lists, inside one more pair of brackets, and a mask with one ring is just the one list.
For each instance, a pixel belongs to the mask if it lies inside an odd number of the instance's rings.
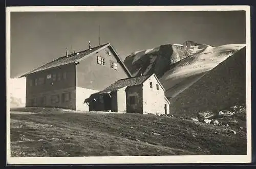
[[83,60],[86,56],[89,56],[91,54],[94,54],[98,51],[101,51],[102,49],[104,49],[105,47],[108,47],[110,46],[112,51],[114,52],[115,56],[117,57],[117,61],[121,64],[121,66],[124,68],[124,70],[126,71],[127,75],[132,77],[130,71],[127,69],[127,67],[124,65],[124,63],[122,62],[121,58],[118,56],[118,54],[116,53],[115,49],[113,48],[113,46],[111,46],[110,43],[106,43],[106,44],[103,44],[103,45],[100,45],[100,46],[97,46],[97,47],[93,47],[91,50],[85,50],[85,51],[81,51],[81,52],[77,52],[75,54],[71,54],[69,55],[68,57],[66,56],[63,56],[63,57],[60,57],[54,61],[51,61],[45,65],[42,65],[32,71],[29,71],[28,73],[20,76],[20,77],[25,77],[29,74],[33,74],[33,73],[36,73],[38,71],[41,71],[41,70],[46,70],[46,69],[50,69],[50,68],[53,68],[53,67],[58,67],[58,66],[61,66],[61,65],[66,65],[66,64],[69,64],[69,63],[74,63],[74,62],[78,62],[78,61],[81,61]]

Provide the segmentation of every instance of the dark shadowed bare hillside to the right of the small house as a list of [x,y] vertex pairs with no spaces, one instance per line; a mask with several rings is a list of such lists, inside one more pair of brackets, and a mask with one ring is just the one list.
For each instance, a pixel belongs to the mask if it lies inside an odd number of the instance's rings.
[[246,106],[246,47],[208,71],[170,99],[170,112],[190,116],[198,111]]

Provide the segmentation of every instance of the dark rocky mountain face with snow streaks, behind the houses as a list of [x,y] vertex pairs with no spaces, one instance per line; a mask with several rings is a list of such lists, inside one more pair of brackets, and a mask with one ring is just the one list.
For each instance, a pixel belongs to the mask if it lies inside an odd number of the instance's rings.
[[208,45],[193,41],[186,41],[183,44],[164,44],[154,49],[134,52],[125,58],[124,64],[133,76],[155,73],[159,77],[173,63],[199,53],[206,47]]

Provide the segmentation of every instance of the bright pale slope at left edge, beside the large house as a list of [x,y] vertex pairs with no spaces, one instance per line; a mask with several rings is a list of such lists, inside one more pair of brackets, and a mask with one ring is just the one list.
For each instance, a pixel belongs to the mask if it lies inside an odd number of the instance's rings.
[[26,78],[11,78],[9,80],[11,107],[25,107]]

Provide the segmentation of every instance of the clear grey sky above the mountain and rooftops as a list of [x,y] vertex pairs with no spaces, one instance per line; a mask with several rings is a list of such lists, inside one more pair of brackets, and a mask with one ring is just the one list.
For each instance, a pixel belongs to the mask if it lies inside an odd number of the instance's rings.
[[12,12],[11,77],[65,55],[111,43],[124,58],[161,44],[193,40],[213,46],[245,43],[244,11]]

